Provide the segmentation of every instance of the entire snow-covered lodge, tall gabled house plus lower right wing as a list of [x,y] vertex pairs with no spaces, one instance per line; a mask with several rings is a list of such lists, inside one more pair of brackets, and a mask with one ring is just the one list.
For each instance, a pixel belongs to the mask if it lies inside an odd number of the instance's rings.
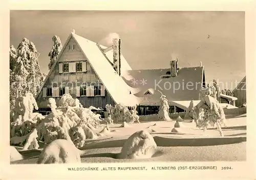
[[177,101],[199,100],[205,87],[203,66],[179,68],[178,60],[173,60],[166,69],[132,70],[120,44],[120,39],[113,39],[113,46],[105,47],[71,33],[35,97],[39,111],[50,111],[50,97],[59,106],[66,93],[83,107],[137,105],[139,115],[157,113],[161,93],[170,112],[184,111]]

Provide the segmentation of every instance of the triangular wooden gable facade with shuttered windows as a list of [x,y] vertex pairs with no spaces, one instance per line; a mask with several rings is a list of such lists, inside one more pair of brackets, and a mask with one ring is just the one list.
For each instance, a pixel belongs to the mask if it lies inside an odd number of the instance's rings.
[[83,107],[104,109],[107,104],[114,106],[113,98],[72,37],[64,48],[36,98],[39,111],[50,111],[47,107],[50,97],[59,106],[61,96],[65,93],[79,99]]

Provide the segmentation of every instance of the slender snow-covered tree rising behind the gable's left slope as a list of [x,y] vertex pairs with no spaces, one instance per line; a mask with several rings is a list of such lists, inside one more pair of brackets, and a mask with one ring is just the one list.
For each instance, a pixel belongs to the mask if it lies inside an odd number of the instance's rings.
[[58,36],[54,35],[52,37],[52,41],[53,41],[52,50],[48,54],[48,56],[50,57],[50,63],[48,64],[49,70],[52,68],[54,62],[56,61],[56,59],[62,49],[62,44],[61,44],[60,38]]

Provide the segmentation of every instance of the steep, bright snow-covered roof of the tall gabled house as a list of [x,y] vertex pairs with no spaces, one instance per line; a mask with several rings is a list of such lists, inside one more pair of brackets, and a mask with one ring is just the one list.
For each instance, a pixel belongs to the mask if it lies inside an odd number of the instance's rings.
[[[139,99],[133,94],[130,94],[130,90],[132,88],[130,88],[127,84],[125,84],[122,78],[116,73],[112,65],[109,63],[106,57],[102,54],[101,50],[97,46],[97,43],[90,41],[86,38],[83,38],[81,36],[78,36],[74,33],[71,33],[70,36],[68,37],[65,45],[63,46],[60,52],[60,55],[58,56],[57,60],[53,64],[51,70],[49,71],[45,82],[47,81],[49,75],[51,74],[54,66],[57,64],[59,58],[61,57],[63,49],[65,49],[71,37],[75,39],[84,57],[86,57],[90,65],[93,67],[93,69],[95,70],[95,73],[98,75],[98,78],[101,80],[106,90],[110,93],[113,100],[116,103],[123,104],[124,106],[137,105],[139,103]],[[110,54],[106,56],[108,56],[108,58],[111,59]],[[113,54],[112,54],[112,59],[113,59]],[[124,71],[125,66],[126,68],[131,69],[129,64],[125,62],[126,60],[123,58],[123,56],[121,56],[121,73],[122,73],[122,70]],[[123,69],[122,69],[122,64],[124,66]],[[42,84],[42,86],[40,87],[39,92],[41,91],[44,84]]]

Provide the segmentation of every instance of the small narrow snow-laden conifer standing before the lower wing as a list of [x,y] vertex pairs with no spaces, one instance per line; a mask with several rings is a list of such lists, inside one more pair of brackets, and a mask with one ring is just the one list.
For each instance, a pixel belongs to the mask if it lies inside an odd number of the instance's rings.
[[161,97],[160,97],[160,107],[158,112],[158,120],[160,121],[171,120],[168,113],[168,110],[169,110],[168,100],[166,99],[166,96],[162,94],[162,92],[160,93],[161,93]]

